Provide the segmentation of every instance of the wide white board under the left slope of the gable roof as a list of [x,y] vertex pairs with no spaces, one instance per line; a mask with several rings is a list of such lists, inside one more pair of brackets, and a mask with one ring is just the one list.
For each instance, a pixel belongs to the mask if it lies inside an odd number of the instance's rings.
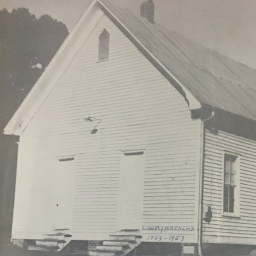
[[94,0],[10,119],[4,129],[4,134],[22,134],[103,15],[98,1]]

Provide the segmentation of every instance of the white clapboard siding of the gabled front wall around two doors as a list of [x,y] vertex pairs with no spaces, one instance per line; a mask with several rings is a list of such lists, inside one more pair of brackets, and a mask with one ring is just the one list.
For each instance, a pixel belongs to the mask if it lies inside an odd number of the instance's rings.
[[[110,60],[98,62],[104,28]],[[101,119],[94,135],[89,116]],[[181,94],[103,16],[22,135],[14,237],[50,228],[53,162],[61,156],[76,158],[72,238],[116,231],[122,150],[146,151],[143,225],[195,226],[199,125]]]

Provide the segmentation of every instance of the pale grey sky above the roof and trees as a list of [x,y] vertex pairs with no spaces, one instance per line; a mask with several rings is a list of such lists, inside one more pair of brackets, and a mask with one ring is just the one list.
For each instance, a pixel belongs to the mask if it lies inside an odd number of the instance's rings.
[[[119,0],[136,12],[143,0]],[[156,22],[256,69],[255,0],[155,0]],[[1,0],[0,9],[49,14],[71,31],[90,0]]]

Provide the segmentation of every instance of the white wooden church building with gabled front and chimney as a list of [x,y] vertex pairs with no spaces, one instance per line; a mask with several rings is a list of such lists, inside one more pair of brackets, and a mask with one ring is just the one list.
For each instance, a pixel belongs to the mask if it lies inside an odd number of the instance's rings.
[[5,127],[30,250],[256,245],[256,71],[140,11],[94,0]]

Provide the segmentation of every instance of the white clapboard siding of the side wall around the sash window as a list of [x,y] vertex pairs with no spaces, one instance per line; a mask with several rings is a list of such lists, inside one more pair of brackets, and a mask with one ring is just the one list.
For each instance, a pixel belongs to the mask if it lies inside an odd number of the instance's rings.
[[[223,154],[240,156],[240,215],[223,216]],[[206,242],[249,244],[256,239],[256,141],[206,130],[204,158],[204,203],[211,205],[212,221],[204,223]],[[219,237],[219,238],[218,238]],[[238,240],[239,239],[239,240]]]

